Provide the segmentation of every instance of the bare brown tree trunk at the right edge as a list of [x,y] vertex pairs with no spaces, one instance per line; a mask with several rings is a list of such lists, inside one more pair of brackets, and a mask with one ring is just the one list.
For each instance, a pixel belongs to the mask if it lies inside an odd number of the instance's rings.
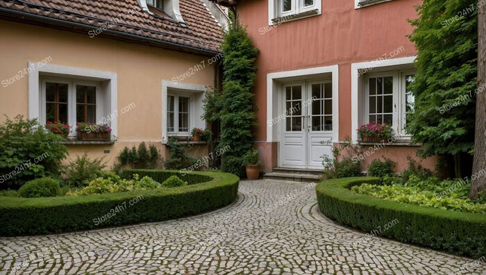
[[[478,3],[478,94],[476,97],[476,138],[474,142],[471,199],[486,190],[486,6]],[[481,90],[481,88],[485,88]],[[480,175],[480,176],[478,176]]]

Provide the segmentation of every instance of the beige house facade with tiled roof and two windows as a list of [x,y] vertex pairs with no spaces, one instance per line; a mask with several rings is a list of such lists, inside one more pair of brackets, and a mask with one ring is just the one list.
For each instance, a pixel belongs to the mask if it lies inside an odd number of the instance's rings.
[[[203,94],[220,81],[225,20],[200,0],[0,1],[0,121],[68,123],[71,157],[113,164],[140,142],[165,156],[170,136],[206,128]],[[110,124],[110,140],[76,140],[80,122]],[[206,156],[207,144],[194,145]]]

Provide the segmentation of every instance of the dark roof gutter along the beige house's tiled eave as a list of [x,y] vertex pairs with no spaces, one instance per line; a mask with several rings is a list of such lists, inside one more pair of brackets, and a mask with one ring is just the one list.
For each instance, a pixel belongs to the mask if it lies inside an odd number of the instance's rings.
[[[21,16],[21,17],[28,17],[28,18],[33,19],[33,21],[35,21],[35,22],[51,22],[51,23],[53,23],[53,25],[61,27],[61,28],[62,28],[62,26],[75,26],[77,28],[82,28],[82,29],[86,29],[86,30],[89,30],[89,31],[94,31],[94,30],[97,29],[97,27],[86,25],[86,24],[69,22],[69,21],[56,19],[56,18],[44,17],[44,16],[41,16],[41,15],[33,15],[31,13],[28,13],[28,12],[22,12],[22,11],[19,11],[19,10],[10,10],[9,8],[3,8],[3,7],[0,7],[0,13],[4,13],[6,15],[16,15],[16,16]],[[22,20],[16,20],[16,21],[24,23],[24,24],[26,23]],[[66,29],[66,28],[64,28],[64,29]],[[72,31],[72,30],[69,30],[69,31]],[[210,50],[206,50],[206,49],[190,47],[190,46],[176,44],[176,43],[172,43],[172,42],[156,40],[156,39],[153,39],[153,38],[146,38],[144,36],[133,35],[131,33],[114,31],[114,30],[110,30],[108,28],[106,30],[104,30],[103,33],[106,33],[108,35],[102,35],[102,36],[109,36],[110,38],[113,37],[113,36],[116,37],[116,38],[120,38],[120,37],[121,38],[128,38],[128,40],[136,42],[138,44],[150,44],[152,46],[154,46],[154,44],[157,44],[159,46],[162,46],[165,49],[173,49],[173,50],[174,49],[183,49],[185,51],[190,51],[190,52],[193,52],[193,53],[194,52],[202,53],[203,55],[207,55],[207,56],[216,56],[219,53],[221,53],[221,52],[218,52],[218,51],[210,51]],[[144,41],[149,42],[149,43],[141,43],[140,40],[144,40]]]

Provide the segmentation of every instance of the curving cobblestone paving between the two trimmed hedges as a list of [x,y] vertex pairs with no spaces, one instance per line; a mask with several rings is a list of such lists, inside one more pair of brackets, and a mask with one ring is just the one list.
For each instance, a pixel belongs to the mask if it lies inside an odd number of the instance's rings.
[[366,241],[318,212],[312,185],[269,180],[242,181],[233,205],[196,217],[0,238],[0,260],[0,274],[455,274],[473,261]]

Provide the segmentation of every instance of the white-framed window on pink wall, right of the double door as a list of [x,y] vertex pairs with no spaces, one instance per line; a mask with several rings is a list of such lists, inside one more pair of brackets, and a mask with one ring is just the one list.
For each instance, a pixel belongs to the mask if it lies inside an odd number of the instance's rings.
[[395,133],[404,134],[406,115],[414,108],[414,96],[409,85],[413,71],[369,74],[365,78],[365,123],[392,125]]

